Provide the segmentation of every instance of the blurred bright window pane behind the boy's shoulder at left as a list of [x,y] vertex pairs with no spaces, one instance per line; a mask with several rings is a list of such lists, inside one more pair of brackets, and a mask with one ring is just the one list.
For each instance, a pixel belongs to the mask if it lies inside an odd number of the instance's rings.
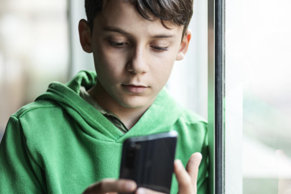
[[67,1],[0,1],[0,140],[21,106],[68,79]]

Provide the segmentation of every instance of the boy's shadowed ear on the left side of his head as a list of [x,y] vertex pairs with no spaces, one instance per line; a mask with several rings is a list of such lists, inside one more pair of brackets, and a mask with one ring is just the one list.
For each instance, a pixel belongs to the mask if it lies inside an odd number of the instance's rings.
[[81,19],[79,22],[79,36],[83,50],[85,52],[91,53],[91,29],[85,19]]

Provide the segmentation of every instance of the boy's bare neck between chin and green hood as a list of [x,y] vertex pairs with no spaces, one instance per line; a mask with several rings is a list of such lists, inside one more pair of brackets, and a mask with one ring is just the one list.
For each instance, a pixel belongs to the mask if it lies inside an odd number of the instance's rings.
[[149,102],[148,105],[141,108],[128,108],[120,105],[115,101],[102,87],[100,82],[92,87],[88,93],[92,98],[105,110],[113,112],[124,123],[127,129],[131,129],[146,112],[149,106],[154,102]]

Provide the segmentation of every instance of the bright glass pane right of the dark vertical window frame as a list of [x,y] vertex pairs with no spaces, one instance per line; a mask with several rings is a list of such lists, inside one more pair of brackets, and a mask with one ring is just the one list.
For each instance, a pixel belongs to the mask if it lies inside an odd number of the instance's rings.
[[226,0],[226,193],[291,192],[290,6]]

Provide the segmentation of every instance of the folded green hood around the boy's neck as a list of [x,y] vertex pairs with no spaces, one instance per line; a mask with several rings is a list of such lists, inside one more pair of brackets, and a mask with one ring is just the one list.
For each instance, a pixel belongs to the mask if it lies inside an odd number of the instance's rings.
[[96,139],[123,142],[126,138],[149,135],[172,130],[171,127],[182,113],[182,105],[177,103],[166,88],[158,94],[155,102],[139,121],[123,134],[98,110],[79,96],[80,87],[92,88],[96,84],[95,71],[81,71],[70,82],[52,82],[48,90],[38,96],[38,100],[50,100],[61,105],[75,119],[82,129]]

